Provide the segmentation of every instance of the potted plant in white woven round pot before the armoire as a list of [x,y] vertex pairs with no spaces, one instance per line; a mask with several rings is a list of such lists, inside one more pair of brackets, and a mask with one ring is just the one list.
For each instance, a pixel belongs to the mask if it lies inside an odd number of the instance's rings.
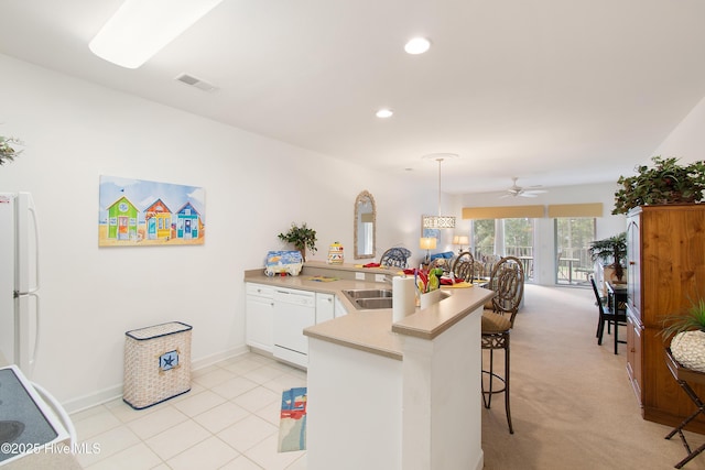
[[705,372],[705,299],[691,302],[687,310],[663,320],[661,336],[671,336],[671,354],[684,368]]

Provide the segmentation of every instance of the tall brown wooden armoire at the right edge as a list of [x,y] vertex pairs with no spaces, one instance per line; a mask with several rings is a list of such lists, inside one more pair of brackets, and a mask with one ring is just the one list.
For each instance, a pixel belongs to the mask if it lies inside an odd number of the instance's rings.
[[[705,204],[643,206],[627,217],[627,371],[644,419],[676,426],[695,411],[669,372],[663,318],[705,295]],[[705,387],[693,386],[705,400]],[[705,434],[705,418],[687,429]]]

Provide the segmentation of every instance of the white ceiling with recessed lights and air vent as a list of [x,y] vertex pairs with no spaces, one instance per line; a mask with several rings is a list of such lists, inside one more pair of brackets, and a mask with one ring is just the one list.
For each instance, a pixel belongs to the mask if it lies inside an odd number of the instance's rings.
[[120,4],[2,0],[0,53],[453,194],[616,182],[705,96],[704,0],[224,0],[138,69]]

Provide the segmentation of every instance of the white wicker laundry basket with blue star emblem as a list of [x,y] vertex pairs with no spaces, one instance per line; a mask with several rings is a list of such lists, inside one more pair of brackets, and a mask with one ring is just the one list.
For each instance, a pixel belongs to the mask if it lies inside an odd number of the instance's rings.
[[191,330],[172,321],[124,334],[124,403],[142,409],[191,390]]

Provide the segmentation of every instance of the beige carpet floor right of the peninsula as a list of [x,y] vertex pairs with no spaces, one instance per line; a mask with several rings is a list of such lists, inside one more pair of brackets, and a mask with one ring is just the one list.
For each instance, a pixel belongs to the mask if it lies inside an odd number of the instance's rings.
[[[627,346],[615,356],[607,335],[597,346],[590,289],[527,285],[524,304],[511,332],[514,434],[496,395],[482,408],[485,469],[671,469],[685,457],[677,436],[664,439],[670,427],[641,418]],[[686,437],[692,448],[705,442]],[[705,452],[684,469],[705,469]]]

